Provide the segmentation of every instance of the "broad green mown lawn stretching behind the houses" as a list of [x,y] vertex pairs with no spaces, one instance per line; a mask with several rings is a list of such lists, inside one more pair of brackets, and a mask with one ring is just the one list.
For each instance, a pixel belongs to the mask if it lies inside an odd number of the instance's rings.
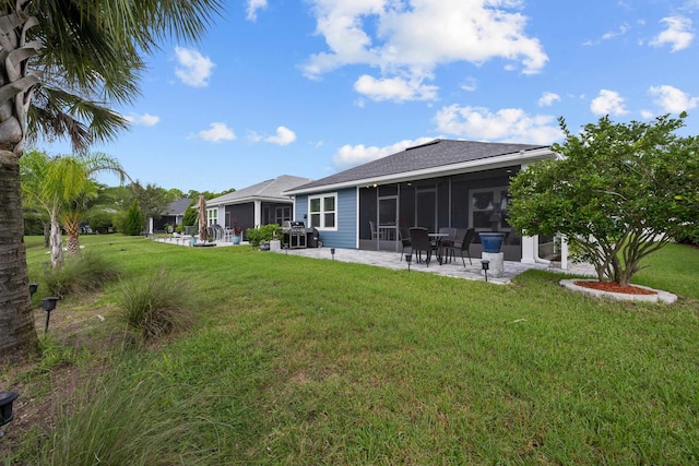
[[[44,458],[80,451],[86,441],[70,426],[107,419],[110,396],[140,391],[105,429],[143,438],[162,464],[699,462],[698,249],[668,246],[633,280],[679,295],[663,306],[579,296],[537,271],[496,286],[248,247],[81,241],[127,276],[165,267],[185,277],[200,318],[142,347],[120,336],[116,285],[61,302],[58,312],[105,320],[45,346],[62,346],[63,363],[85,373],[107,361],[107,382],[52,444],[38,431],[15,445],[16,464],[37,444]],[[27,250],[40,280],[48,254],[36,238]],[[90,335],[111,344],[85,349]],[[95,463],[59,456],[54,464]]]

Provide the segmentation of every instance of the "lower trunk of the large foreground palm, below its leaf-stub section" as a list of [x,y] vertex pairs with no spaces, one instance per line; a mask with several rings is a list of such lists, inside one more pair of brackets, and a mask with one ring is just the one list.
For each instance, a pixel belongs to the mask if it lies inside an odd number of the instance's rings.
[[17,157],[0,151],[0,354],[37,348],[24,248]]

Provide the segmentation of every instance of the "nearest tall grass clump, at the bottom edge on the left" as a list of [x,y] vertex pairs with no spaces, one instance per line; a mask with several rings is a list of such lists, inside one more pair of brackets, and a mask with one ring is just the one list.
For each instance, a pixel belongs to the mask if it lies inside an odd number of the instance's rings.
[[188,441],[197,422],[169,399],[157,373],[118,371],[61,399],[36,464],[47,466],[201,464]]

